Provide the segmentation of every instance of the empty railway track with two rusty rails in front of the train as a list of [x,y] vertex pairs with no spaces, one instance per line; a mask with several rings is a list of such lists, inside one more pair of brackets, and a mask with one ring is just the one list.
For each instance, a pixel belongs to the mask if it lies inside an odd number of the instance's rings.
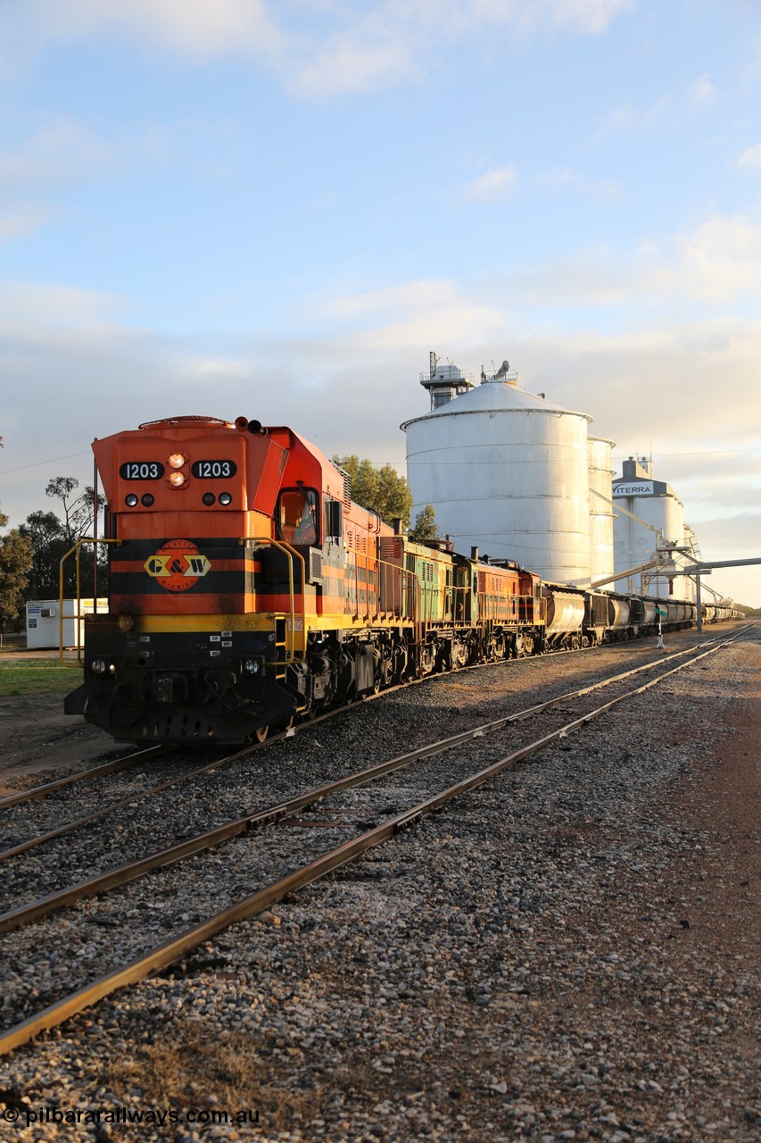
[[[55,1000],[42,1012],[24,1020],[16,1028],[9,1029],[0,1038],[0,1053],[13,1050],[13,1048],[31,1039],[43,1029],[55,1026],[74,1013],[80,1012],[82,1008],[96,1002],[114,989],[138,981],[146,975],[157,972],[159,968],[166,967],[174,960],[185,956],[197,944],[207,941],[210,936],[219,933],[234,921],[261,912],[275,901],[281,900],[286,894],[311,884],[318,878],[323,877],[330,870],[337,869],[339,865],[352,861],[367,849],[379,845],[382,841],[398,833],[400,830],[407,829],[416,822],[419,822],[426,815],[441,809],[451,798],[465,793],[483,782],[489,781],[507,767],[532,757],[542,750],[545,750],[548,745],[588,725],[592,720],[607,713],[617,704],[641,695],[643,692],[674,674],[676,671],[691,666],[692,664],[705,658],[707,655],[722,649],[729,642],[734,641],[734,639],[739,638],[745,630],[747,629],[742,629],[740,631],[735,632],[730,639],[722,639],[719,637],[707,644],[703,644],[698,648],[689,648],[671,655],[667,658],[658,660],[656,663],[648,663],[625,672],[619,672],[615,677],[594,681],[585,687],[577,688],[574,692],[568,692],[564,695],[556,696],[546,702],[534,704],[522,711],[513,712],[502,719],[492,720],[489,724],[484,724],[471,730],[450,736],[446,740],[440,740],[435,743],[428,743],[425,746],[404,756],[382,762],[377,766],[365,768],[354,774],[342,777],[339,781],[327,783],[326,785],[311,790],[298,798],[289,799],[277,806],[247,815],[235,822],[230,822],[219,830],[210,831],[197,838],[189,839],[179,846],[169,847],[168,849],[151,854],[149,857],[142,858],[139,862],[129,863],[119,870],[111,870],[101,878],[90,879],[89,881],[81,882],[78,886],[71,886],[64,893],[49,896],[48,898],[43,898],[33,902],[30,905],[21,906],[19,909],[7,912],[0,918],[0,925],[6,932],[19,925],[29,924],[31,920],[39,919],[47,912],[61,909],[65,904],[72,904],[73,902],[86,896],[91,896],[94,893],[102,893],[107,888],[123,886],[128,881],[135,880],[135,878],[142,876],[142,873],[145,873],[149,870],[155,870],[165,865],[175,864],[183,857],[199,854],[201,849],[218,846],[223,841],[229,841],[233,838],[238,838],[240,840],[241,836],[243,836],[243,839],[250,838],[255,831],[262,831],[265,825],[290,824],[303,826],[305,828],[304,837],[309,833],[310,839],[314,841],[314,836],[319,836],[321,828],[330,830],[342,828],[345,829],[347,826],[354,828],[355,822],[352,821],[352,818],[367,820],[368,817],[380,817],[380,821],[374,821],[373,824],[366,821],[365,825],[367,828],[362,829],[359,837],[354,837],[339,844],[338,846],[333,846],[327,850],[322,846],[318,846],[317,848],[320,852],[317,853],[317,855],[305,855],[307,860],[304,860],[303,863],[295,870],[290,869],[285,873],[285,876],[278,877],[275,880],[271,880],[269,884],[265,884],[263,888],[259,888],[255,893],[234,902],[222,912],[200,921],[186,932],[177,934],[168,941],[154,945],[151,949],[144,950],[130,964],[90,981],[63,999]],[[667,670],[658,670],[664,666],[666,666]],[[644,674],[646,672],[651,672],[652,677],[647,678],[646,681],[641,682],[633,689],[624,689],[628,685],[627,680],[631,680],[639,674]],[[376,802],[379,801],[380,806],[370,806],[365,797],[367,793],[365,788],[367,788],[369,783],[379,782],[383,777],[395,774],[400,770],[406,770],[416,761],[436,759],[456,746],[465,748],[468,744],[475,745],[476,748],[481,748],[482,752],[483,740],[487,736],[523,721],[528,722],[528,720],[532,718],[546,718],[551,712],[554,712],[556,716],[559,710],[562,712],[568,704],[572,702],[578,703],[588,698],[588,696],[593,695],[593,693],[601,687],[618,687],[620,693],[614,694],[612,697],[601,705],[588,706],[587,704],[588,709],[576,711],[575,717],[570,721],[561,721],[560,725],[554,726],[550,730],[545,730],[545,733],[540,734],[538,737],[530,738],[528,742],[522,743],[518,749],[512,750],[508,754],[497,757],[494,760],[488,760],[486,766],[479,765],[482,759],[479,757],[478,749],[475,750],[475,759],[463,759],[460,750],[460,757],[455,764],[449,766],[449,774],[447,775],[448,784],[444,785],[443,789],[439,789],[433,796],[412,801],[411,805],[408,805],[401,812],[388,813],[390,807],[385,804],[387,804],[390,794],[383,786],[379,786],[379,793],[376,798]],[[500,753],[500,750],[502,748],[498,748],[497,752]],[[466,773],[463,774],[463,769]],[[439,781],[440,777],[441,775],[436,775],[436,781]],[[454,777],[455,781],[449,781],[451,777]],[[359,791],[359,805],[350,808],[322,806],[321,814],[323,817],[327,816],[329,818],[327,822],[319,820],[304,820],[303,817],[294,818],[294,815],[297,813],[303,815],[305,812],[309,813],[313,810],[315,805],[318,802],[323,802],[326,798],[330,798],[337,793],[346,793],[350,790]],[[394,796],[398,797],[398,792]],[[383,808],[384,805],[385,808]],[[336,818],[338,818],[338,822]],[[346,821],[346,818],[349,818],[349,821]],[[280,834],[280,837],[282,837],[282,834]],[[312,845],[312,848],[314,849],[315,846]],[[290,853],[290,850],[289,858],[293,864],[293,853]],[[235,868],[234,863],[233,868]]]

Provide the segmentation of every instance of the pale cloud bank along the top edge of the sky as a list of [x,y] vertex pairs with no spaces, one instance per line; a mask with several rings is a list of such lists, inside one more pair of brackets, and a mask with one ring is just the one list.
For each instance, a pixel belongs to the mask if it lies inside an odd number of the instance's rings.
[[24,53],[35,43],[125,37],[193,63],[258,59],[304,95],[415,80],[441,43],[490,35],[600,34],[636,0],[26,0],[0,13]]

